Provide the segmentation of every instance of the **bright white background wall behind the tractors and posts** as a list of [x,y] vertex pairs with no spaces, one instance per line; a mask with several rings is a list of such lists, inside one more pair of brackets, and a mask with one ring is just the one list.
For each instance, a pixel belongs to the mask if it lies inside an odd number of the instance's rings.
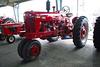
[[[28,10],[33,11],[46,11],[46,2],[47,0],[33,0],[29,2],[24,2],[20,4],[19,7],[19,20],[23,21],[23,13]],[[96,16],[100,15],[100,0],[78,0],[79,1],[79,10],[78,14],[85,15],[89,18],[90,23],[93,21]],[[55,0],[51,0],[51,11],[52,6],[55,6]],[[70,6],[71,12],[74,16],[77,13],[77,0],[63,0],[63,6]],[[10,6],[0,8],[0,15],[8,16],[14,18],[13,8]]]

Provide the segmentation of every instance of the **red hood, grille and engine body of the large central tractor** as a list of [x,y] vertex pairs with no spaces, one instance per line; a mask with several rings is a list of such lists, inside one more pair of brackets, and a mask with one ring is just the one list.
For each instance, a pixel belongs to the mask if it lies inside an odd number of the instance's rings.
[[24,37],[28,39],[47,38],[50,36],[71,35],[73,23],[70,18],[56,12],[27,11],[24,16]]

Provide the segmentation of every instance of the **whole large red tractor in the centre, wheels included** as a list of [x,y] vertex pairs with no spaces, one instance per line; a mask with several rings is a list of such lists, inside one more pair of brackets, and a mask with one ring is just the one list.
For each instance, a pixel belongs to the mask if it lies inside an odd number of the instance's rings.
[[[61,4],[60,4],[61,5]],[[72,13],[70,8],[64,6],[53,12],[50,10],[50,1],[46,3],[47,12],[26,11],[24,13],[25,32],[24,39],[18,45],[18,54],[26,61],[36,59],[41,52],[41,44],[35,38],[47,39],[49,42],[57,41],[59,37],[73,38],[77,48],[85,46],[88,36],[88,19],[85,16],[74,17],[70,20]]]

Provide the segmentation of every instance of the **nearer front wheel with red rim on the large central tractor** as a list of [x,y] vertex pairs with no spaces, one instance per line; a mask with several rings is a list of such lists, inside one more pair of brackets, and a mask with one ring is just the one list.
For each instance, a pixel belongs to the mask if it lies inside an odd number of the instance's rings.
[[24,44],[22,48],[22,58],[24,61],[30,61],[36,59],[41,51],[41,44],[37,40],[31,40]]

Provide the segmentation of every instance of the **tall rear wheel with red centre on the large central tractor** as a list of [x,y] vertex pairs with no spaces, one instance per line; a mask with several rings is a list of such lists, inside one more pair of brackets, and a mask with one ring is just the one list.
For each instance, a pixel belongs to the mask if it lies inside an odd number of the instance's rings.
[[77,48],[85,46],[88,38],[88,19],[85,16],[81,16],[75,22],[73,28],[73,42]]

